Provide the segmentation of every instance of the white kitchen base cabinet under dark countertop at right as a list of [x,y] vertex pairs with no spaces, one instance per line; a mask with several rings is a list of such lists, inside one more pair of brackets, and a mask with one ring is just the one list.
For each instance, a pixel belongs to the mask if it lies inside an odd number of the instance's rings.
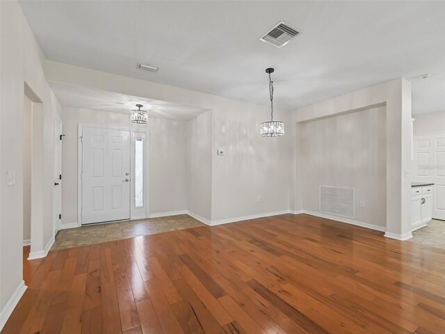
[[417,230],[432,219],[432,187],[416,186],[411,189],[411,227]]

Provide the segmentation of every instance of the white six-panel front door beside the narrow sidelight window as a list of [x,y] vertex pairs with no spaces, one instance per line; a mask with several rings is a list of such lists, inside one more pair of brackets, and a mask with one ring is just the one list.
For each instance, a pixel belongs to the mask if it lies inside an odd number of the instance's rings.
[[83,127],[82,224],[130,218],[130,132]]

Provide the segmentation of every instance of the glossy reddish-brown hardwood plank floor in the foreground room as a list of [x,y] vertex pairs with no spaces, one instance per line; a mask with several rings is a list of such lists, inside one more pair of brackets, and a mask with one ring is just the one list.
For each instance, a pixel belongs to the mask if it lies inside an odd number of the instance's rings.
[[282,215],[54,250],[1,333],[445,333],[445,250]]

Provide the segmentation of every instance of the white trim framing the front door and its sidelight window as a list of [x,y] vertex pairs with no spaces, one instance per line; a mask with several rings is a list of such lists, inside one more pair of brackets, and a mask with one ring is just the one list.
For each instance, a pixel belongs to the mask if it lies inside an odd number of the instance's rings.
[[[129,131],[130,132],[130,170],[133,168],[133,161],[132,159],[132,150],[133,150],[133,143],[132,138],[133,134],[135,133],[145,133],[145,159],[144,159],[144,166],[146,170],[146,177],[145,177],[145,217],[135,217],[137,219],[143,219],[148,218],[149,216],[149,164],[146,161],[149,161],[149,129],[146,129],[145,131],[143,129],[131,129],[129,127],[113,127],[108,125],[97,125],[97,124],[85,124],[85,123],[79,123],[77,125],[77,226],[80,228],[82,226],[82,134],[83,134],[83,127],[92,127],[96,129],[111,129],[111,130],[122,130],[122,131]],[[131,173],[131,182],[133,182],[133,173]],[[132,189],[132,186],[130,186],[130,189]],[[131,218],[131,190],[130,190],[130,220]]]

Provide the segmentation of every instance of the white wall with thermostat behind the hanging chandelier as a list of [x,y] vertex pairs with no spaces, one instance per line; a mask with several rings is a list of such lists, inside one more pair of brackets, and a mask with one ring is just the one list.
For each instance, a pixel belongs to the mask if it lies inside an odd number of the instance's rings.
[[[261,122],[270,120],[267,106],[232,101],[212,115],[213,223],[288,212],[293,143],[289,113],[275,110],[274,120],[282,120],[285,131],[275,138],[259,134]],[[225,150],[225,155],[218,156],[217,150]]]

